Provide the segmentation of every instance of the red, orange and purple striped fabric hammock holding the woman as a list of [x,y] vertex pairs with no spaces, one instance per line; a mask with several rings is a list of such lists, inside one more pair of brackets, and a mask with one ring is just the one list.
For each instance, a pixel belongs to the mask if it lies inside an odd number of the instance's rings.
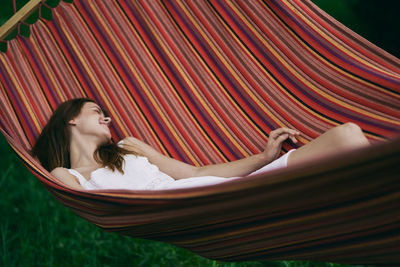
[[[79,216],[223,261],[400,263],[399,59],[309,0],[75,0],[52,16],[0,55],[0,130]],[[258,153],[283,126],[305,144],[355,122],[379,144],[215,186],[79,191],[28,151],[83,96],[108,109],[116,140],[195,165]]]

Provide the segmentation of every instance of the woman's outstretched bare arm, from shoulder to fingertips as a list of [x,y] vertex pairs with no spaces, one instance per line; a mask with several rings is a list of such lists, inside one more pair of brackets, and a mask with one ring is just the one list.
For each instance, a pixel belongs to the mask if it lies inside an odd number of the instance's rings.
[[202,167],[196,167],[167,157],[134,137],[125,138],[123,145],[124,148],[145,156],[162,172],[175,179],[198,176],[237,177],[248,175],[275,160],[279,156],[282,142],[287,138],[292,139],[293,142],[297,142],[297,135],[299,135],[298,131],[279,128],[270,133],[267,147],[262,153],[228,163]]

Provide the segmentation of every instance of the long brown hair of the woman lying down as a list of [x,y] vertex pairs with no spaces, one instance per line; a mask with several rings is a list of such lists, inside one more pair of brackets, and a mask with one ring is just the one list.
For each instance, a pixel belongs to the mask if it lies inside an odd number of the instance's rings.
[[[79,115],[86,102],[93,102],[90,98],[76,98],[65,101],[54,111],[50,120],[43,128],[31,152],[36,156],[43,167],[52,171],[57,167],[71,168],[70,143],[71,133],[69,121]],[[103,109],[107,115],[107,111]],[[113,140],[99,146],[94,152],[94,159],[103,167],[117,169],[123,173],[123,155],[130,154],[129,150],[119,147]]]

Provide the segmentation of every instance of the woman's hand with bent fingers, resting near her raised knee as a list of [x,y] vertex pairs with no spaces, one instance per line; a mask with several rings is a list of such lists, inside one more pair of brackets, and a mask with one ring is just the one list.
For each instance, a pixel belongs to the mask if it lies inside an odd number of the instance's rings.
[[279,128],[273,130],[269,134],[268,144],[263,154],[272,162],[279,157],[281,152],[282,143],[290,138],[293,143],[297,143],[296,136],[300,135],[299,131],[289,128]]

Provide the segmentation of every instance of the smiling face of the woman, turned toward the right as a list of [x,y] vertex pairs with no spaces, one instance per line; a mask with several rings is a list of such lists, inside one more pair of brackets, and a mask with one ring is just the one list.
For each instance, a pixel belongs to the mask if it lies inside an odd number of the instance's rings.
[[105,117],[102,109],[93,102],[86,102],[79,115],[69,121],[77,133],[88,137],[97,137],[102,143],[111,139],[110,122],[111,118]]

